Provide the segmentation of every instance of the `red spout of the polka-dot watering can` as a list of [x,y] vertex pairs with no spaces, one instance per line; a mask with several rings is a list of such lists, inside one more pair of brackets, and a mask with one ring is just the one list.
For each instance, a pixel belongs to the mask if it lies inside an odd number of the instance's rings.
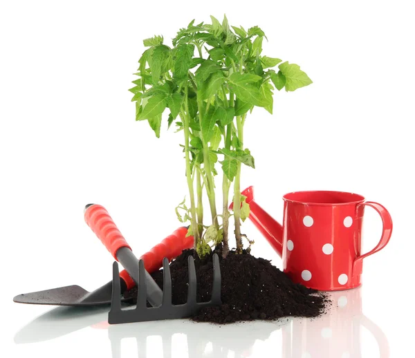
[[[254,187],[246,188],[241,194],[246,196],[246,202],[250,206],[250,220],[259,229],[259,232],[264,235],[277,254],[282,257],[282,225],[255,202]],[[233,203],[230,209],[232,209],[232,206]]]

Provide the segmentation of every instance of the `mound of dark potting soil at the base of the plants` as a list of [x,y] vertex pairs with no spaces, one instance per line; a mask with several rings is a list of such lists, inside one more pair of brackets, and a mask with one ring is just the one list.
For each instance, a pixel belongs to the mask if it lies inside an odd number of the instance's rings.
[[[172,263],[172,303],[187,300],[187,257],[193,249],[182,252]],[[219,307],[201,308],[192,317],[194,321],[231,323],[254,319],[275,320],[286,316],[317,317],[324,313],[329,303],[326,295],[304,285],[293,283],[284,272],[264,258],[256,258],[246,252],[231,251],[221,263],[221,299]],[[197,301],[210,300],[213,283],[212,255],[201,260],[195,258],[197,277]],[[163,289],[163,270],[151,274]],[[125,298],[137,296],[137,289],[124,292]]]

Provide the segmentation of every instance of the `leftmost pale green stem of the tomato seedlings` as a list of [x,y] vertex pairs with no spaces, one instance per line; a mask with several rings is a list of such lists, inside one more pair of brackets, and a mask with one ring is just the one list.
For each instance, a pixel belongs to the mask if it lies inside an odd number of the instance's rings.
[[196,205],[194,204],[194,187],[192,180],[192,169],[190,167],[190,156],[189,156],[189,106],[187,104],[187,85],[185,86],[185,109],[186,113],[181,111],[181,120],[183,121],[183,127],[185,132],[185,160],[186,160],[186,179],[187,187],[189,187],[190,196],[190,214],[192,214],[192,231],[193,231],[193,245],[194,252],[196,252],[197,245],[199,243],[199,230],[196,220]]

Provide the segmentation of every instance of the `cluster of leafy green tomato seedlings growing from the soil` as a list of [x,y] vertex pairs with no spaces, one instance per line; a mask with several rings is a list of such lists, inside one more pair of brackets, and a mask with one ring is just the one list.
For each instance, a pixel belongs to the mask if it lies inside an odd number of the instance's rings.
[[[162,36],[145,39],[148,48],[138,61],[136,86],[129,91],[136,102],[136,120],[147,120],[158,138],[166,109],[168,128],[174,122],[177,131],[183,131],[190,207],[183,200],[176,214],[182,222],[190,221],[189,234],[194,236],[199,256],[221,242],[226,256],[232,183],[237,253],[243,249],[241,220],[250,212],[240,187],[242,164],[255,168],[243,140],[246,117],[255,106],[272,114],[275,88],[295,91],[312,82],[298,65],[262,55],[266,36],[258,26],[245,30],[229,26],[226,17],[222,23],[211,19],[210,24],[190,22],[178,31],[172,46],[163,44]],[[214,182],[218,162],[222,171],[221,214],[216,210]],[[203,224],[203,192],[208,196],[210,225]]]

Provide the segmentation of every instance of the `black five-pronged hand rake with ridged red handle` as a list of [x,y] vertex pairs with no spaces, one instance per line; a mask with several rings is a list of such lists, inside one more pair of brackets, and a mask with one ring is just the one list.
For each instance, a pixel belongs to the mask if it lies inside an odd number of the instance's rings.
[[[154,247],[156,260],[162,256],[167,256],[163,258],[162,291],[147,270],[145,270],[146,257],[138,261],[104,207],[88,205],[85,211],[85,221],[114,258],[116,258],[116,262],[113,263],[111,310],[108,314],[108,322],[110,324],[185,318],[190,317],[200,308],[221,304],[221,271],[219,257],[216,254],[213,256],[213,285],[210,301],[196,302],[196,271],[194,268],[194,258],[189,256],[187,260],[189,265],[187,302],[182,305],[172,305],[172,279],[168,256],[171,252],[176,253],[177,248],[174,245],[170,247],[157,245]],[[118,272],[117,261],[122,263],[138,285],[137,305],[134,309],[121,310],[120,273]],[[153,307],[147,308],[147,301]]]

